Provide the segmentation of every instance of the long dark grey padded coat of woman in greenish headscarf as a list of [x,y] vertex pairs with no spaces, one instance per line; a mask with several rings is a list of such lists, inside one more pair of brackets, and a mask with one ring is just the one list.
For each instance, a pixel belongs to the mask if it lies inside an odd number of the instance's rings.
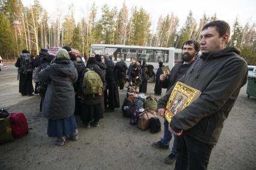
[[49,81],[43,101],[43,114],[47,119],[65,119],[75,111],[73,83],[78,72],[71,60],[56,59],[53,65],[38,73],[41,82]]

